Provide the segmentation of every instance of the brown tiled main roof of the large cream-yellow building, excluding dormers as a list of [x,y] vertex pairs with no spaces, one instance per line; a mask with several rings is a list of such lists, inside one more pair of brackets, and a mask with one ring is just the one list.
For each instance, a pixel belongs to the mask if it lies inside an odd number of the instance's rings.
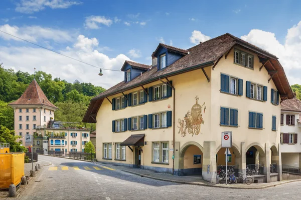
[[[160,43],[159,46],[160,45],[162,44]],[[168,46],[166,44],[163,45]],[[83,122],[95,122],[90,115],[95,115],[97,113],[103,98],[120,93],[121,91],[138,87],[143,84],[154,82],[160,78],[169,77],[206,66],[213,66],[218,62],[219,58],[229,52],[234,45],[247,48],[248,50],[256,53],[262,60],[269,60],[265,63],[264,67],[268,71],[277,71],[277,73],[273,75],[272,80],[281,95],[281,99],[293,98],[293,94],[284,73],[284,69],[275,55],[270,54],[269,52],[238,37],[235,37],[232,34],[226,33],[187,49],[186,52],[189,52],[188,54],[184,55],[162,70],[157,70],[157,66],[150,67],[147,71],[142,73],[142,75],[137,76],[133,80],[128,82],[121,81],[95,96],[91,99],[86,114],[83,118]]]

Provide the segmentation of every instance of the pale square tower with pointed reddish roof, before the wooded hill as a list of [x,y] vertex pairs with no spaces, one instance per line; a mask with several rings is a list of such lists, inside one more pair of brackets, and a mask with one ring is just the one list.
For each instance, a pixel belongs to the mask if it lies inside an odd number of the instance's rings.
[[54,111],[58,109],[48,100],[36,79],[33,79],[18,100],[9,105],[15,112],[16,135],[22,136],[18,140],[24,146],[26,135],[39,131],[39,127],[46,127],[50,120],[54,120]]

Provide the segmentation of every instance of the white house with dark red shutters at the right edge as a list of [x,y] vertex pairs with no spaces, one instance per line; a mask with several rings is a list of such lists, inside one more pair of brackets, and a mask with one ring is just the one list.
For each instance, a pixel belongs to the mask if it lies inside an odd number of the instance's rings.
[[301,167],[301,101],[295,96],[281,102],[280,150],[282,168]]

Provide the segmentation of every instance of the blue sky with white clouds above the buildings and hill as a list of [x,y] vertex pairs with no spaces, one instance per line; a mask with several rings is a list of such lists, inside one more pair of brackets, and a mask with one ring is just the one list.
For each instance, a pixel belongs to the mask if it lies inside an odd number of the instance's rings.
[[[301,2],[1,0],[0,30],[90,64],[119,70],[126,59],[150,64],[159,42],[189,48],[229,32],[279,57],[290,84],[301,84]],[[34,67],[108,88],[123,78],[0,32],[0,62]]]

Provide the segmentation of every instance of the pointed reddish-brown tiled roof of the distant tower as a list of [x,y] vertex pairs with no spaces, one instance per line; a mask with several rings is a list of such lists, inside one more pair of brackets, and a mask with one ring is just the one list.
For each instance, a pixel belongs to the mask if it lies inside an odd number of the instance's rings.
[[49,107],[53,107],[55,109],[58,109],[57,106],[52,104],[46,95],[44,94],[43,90],[41,89],[40,85],[36,81],[36,79],[33,79],[33,81],[28,85],[25,92],[21,95],[21,97],[10,103],[9,105],[47,105]]

